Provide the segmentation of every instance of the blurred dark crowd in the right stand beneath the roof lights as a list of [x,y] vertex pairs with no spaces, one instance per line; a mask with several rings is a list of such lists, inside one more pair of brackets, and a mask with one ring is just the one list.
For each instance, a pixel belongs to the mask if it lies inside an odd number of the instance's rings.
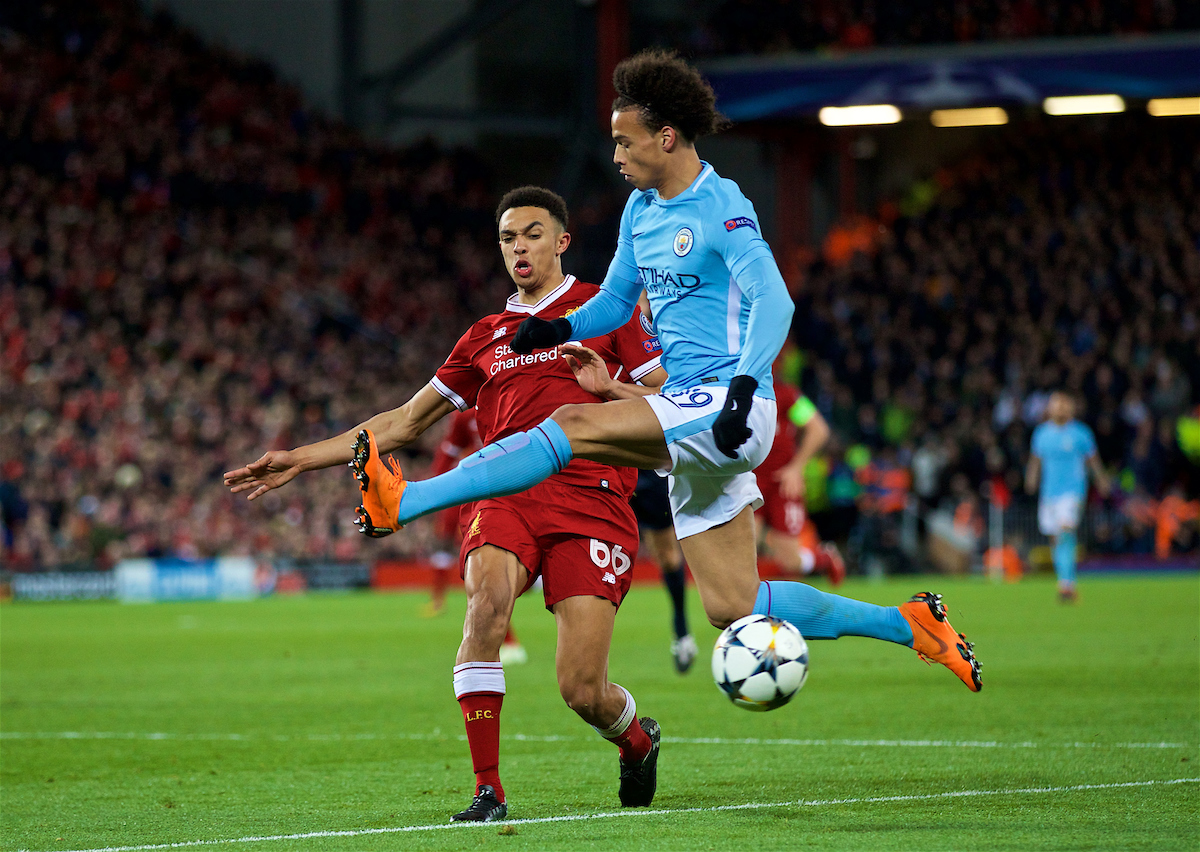
[[1066,390],[1118,485],[1090,544],[1156,550],[1156,512],[1200,497],[1198,175],[1194,127],[1026,122],[832,233],[796,329],[841,442],[832,506],[894,512],[899,488],[982,530],[985,503],[1027,500],[1031,432]]

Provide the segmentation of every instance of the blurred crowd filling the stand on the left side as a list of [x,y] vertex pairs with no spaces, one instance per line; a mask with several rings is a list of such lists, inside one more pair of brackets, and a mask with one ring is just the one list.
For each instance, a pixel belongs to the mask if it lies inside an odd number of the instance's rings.
[[251,505],[221,474],[402,403],[508,295],[482,164],[367,144],[133,0],[0,16],[5,564],[354,558],[348,472]]

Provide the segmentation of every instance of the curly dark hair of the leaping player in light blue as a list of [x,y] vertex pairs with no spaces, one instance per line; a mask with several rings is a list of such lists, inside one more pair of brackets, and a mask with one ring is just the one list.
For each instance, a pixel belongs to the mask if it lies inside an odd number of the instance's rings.
[[652,48],[623,60],[612,72],[612,86],[613,112],[637,109],[652,133],[670,125],[695,142],[730,125],[716,112],[713,86],[674,50]]

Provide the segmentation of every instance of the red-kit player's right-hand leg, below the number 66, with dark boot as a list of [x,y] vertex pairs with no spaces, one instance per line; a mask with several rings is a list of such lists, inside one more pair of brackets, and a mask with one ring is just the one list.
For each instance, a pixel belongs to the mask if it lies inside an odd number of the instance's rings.
[[576,595],[554,605],[554,667],[563,701],[601,737],[620,749],[620,803],[649,805],[658,784],[659,724],[637,718],[634,697],[608,680],[608,647],[617,607],[604,598]]

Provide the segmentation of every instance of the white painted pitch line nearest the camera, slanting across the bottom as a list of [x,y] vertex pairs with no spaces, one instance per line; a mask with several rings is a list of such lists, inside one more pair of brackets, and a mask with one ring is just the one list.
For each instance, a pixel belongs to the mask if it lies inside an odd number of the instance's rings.
[[[602,814],[571,814],[568,816],[541,816],[530,820],[505,820],[505,826],[538,826],[550,822],[580,822],[582,820],[616,820],[629,816],[673,816],[678,814],[715,814],[733,810],[761,810],[766,808],[826,808],[829,805],[866,805],[889,802],[928,802],[930,799],[968,798],[973,796],[1037,796],[1039,793],[1075,793],[1088,790],[1121,790],[1128,787],[1156,787],[1174,784],[1198,784],[1200,778],[1175,778],[1168,781],[1122,781],[1118,784],[1073,784],[1067,787],[1015,787],[1013,790],[955,790],[946,793],[924,793],[920,796],[871,796],[852,799],[799,799],[796,802],[746,802],[737,805],[714,805],[712,808],[661,808],[630,809],[606,811]],[[272,840],[310,840],[316,838],[364,838],[372,834],[404,834],[410,832],[469,830],[481,826],[496,827],[497,823],[485,822],[442,822],[433,826],[397,826],[394,828],[356,828],[344,830],[301,832],[296,834],[271,834],[260,836],[232,838],[228,840],[182,840],[174,844],[146,844],[144,846],[102,846],[90,850],[72,850],[71,852],[149,852],[149,850],[178,850],[192,846],[220,846],[221,844],[259,844]],[[19,852],[28,852],[20,850]]]

